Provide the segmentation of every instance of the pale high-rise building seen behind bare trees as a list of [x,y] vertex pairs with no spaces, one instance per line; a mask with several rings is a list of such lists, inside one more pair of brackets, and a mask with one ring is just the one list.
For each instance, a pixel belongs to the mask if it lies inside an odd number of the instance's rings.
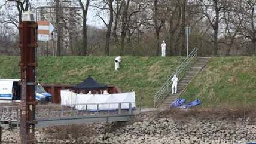
[[[56,14],[56,9],[58,14]],[[38,20],[47,20],[53,24],[54,30],[50,34],[49,41],[41,41],[39,44],[39,53],[56,56],[56,47],[58,34],[60,36],[60,55],[72,53],[74,43],[82,36],[83,14],[81,7],[72,5],[71,1],[59,1],[56,7],[56,1],[52,5],[37,7],[36,17]],[[59,32],[57,30],[59,29]],[[41,45],[41,47],[40,47]]]

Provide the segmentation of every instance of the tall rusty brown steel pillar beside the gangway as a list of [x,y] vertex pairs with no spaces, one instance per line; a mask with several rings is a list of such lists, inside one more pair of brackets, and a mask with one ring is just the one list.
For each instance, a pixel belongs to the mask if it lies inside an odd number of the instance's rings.
[[20,23],[20,143],[35,143],[36,96],[36,30],[38,24],[31,21]]

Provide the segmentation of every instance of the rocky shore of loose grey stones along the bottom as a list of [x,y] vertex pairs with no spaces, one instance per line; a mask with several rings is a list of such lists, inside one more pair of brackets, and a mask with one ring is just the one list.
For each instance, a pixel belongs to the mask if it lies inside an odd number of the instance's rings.
[[[192,113],[192,114],[191,114]],[[35,138],[38,143],[175,143],[175,144],[222,144],[256,142],[254,114],[205,115],[191,111],[151,111],[129,122],[112,122],[79,125],[38,127]],[[197,111],[198,113],[198,111]],[[234,115],[234,116],[233,116]],[[245,117],[246,116],[246,117]],[[2,125],[2,141],[16,142],[17,129]],[[17,142],[16,142],[17,143]]]

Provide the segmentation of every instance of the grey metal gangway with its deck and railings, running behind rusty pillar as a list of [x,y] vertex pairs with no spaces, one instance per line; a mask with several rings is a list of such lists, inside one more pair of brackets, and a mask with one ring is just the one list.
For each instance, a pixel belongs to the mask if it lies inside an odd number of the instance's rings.
[[[84,103],[71,105],[37,105],[36,126],[83,124],[87,122],[129,121],[139,111],[135,103]],[[78,110],[77,108],[80,108]],[[1,124],[19,124],[19,106],[0,106]]]

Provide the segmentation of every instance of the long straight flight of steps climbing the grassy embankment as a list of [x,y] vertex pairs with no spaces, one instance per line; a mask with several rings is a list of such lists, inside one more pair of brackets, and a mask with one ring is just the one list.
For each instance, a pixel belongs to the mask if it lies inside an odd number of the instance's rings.
[[198,57],[194,65],[191,66],[190,70],[185,73],[185,75],[179,80],[177,93],[169,93],[158,108],[170,108],[170,104],[182,94],[182,92],[187,88],[188,84],[190,84],[190,82],[197,75],[197,73],[199,73],[203,69],[209,59],[209,57]]

